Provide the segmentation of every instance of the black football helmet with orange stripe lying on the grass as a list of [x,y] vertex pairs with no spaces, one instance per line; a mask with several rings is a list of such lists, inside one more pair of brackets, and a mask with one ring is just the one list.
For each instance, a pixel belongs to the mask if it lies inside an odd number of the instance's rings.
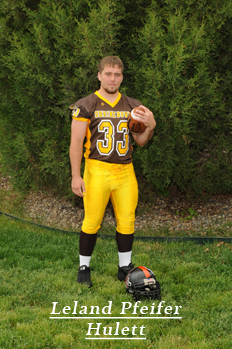
[[146,267],[140,266],[130,270],[126,276],[125,285],[136,301],[140,296],[161,299],[160,284],[155,274]]

